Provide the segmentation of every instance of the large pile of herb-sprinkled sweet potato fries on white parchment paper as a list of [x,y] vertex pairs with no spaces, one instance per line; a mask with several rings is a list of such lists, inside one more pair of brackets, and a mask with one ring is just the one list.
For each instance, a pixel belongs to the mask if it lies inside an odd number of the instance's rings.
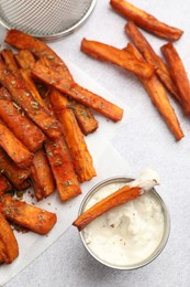
[[56,214],[9,195],[32,185],[37,201],[58,191],[63,202],[97,176],[85,136],[98,128],[92,110],[113,121],[123,109],[79,86],[45,43],[10,30],[18,50],[0,54],[0,263],[19,255],[12,222],[47,234]]

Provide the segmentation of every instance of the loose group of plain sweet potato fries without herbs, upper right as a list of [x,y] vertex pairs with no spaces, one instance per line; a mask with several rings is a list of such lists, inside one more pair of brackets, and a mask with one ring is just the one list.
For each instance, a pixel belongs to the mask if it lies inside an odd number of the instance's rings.
[[[121,50],[83,39],[81,51],[100,61],[111,62],[134,73],[147,91],[153,104],[163,116],[176,140],[180,140],[185,135],[168,99],[168,93],[178,100],[185,113],[189,115],[190,84],[183,63],[172,44],[172,41],[180,39],[183,31],[160,22],[125,0],[111,0],[110,4],[127,19],[125,32],[131,42]],[[155,53],[138,26],[156,36],[170,41],[161,47],[167,64]]]

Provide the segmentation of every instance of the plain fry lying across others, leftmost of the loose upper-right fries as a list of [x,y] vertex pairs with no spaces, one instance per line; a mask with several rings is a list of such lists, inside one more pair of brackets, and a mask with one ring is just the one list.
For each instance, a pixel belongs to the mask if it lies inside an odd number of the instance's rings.
[[81,41],[81,51],[98,60],[111,62],[142,77],[150,77],[155,71],[155,67],[148,63],[138,61],[118,47],[97,41],[83,39]]

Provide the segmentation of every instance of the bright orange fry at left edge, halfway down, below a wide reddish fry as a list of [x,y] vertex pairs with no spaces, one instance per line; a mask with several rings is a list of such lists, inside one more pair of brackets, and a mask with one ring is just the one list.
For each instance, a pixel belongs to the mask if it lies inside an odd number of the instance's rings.
[[33,153],[0,121],[0,146],[20,168],[26,168],[32,162]]

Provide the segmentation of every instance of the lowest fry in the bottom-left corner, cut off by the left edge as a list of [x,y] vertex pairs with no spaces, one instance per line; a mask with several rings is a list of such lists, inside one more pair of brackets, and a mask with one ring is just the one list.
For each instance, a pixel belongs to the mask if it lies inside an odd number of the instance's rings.
[[1,213],[0,213],[0,241],[4,245],[5,263],[10,264],[19,256],[19,246],[11,226],[9,225],[9,223],[7,222],[7,220]]

